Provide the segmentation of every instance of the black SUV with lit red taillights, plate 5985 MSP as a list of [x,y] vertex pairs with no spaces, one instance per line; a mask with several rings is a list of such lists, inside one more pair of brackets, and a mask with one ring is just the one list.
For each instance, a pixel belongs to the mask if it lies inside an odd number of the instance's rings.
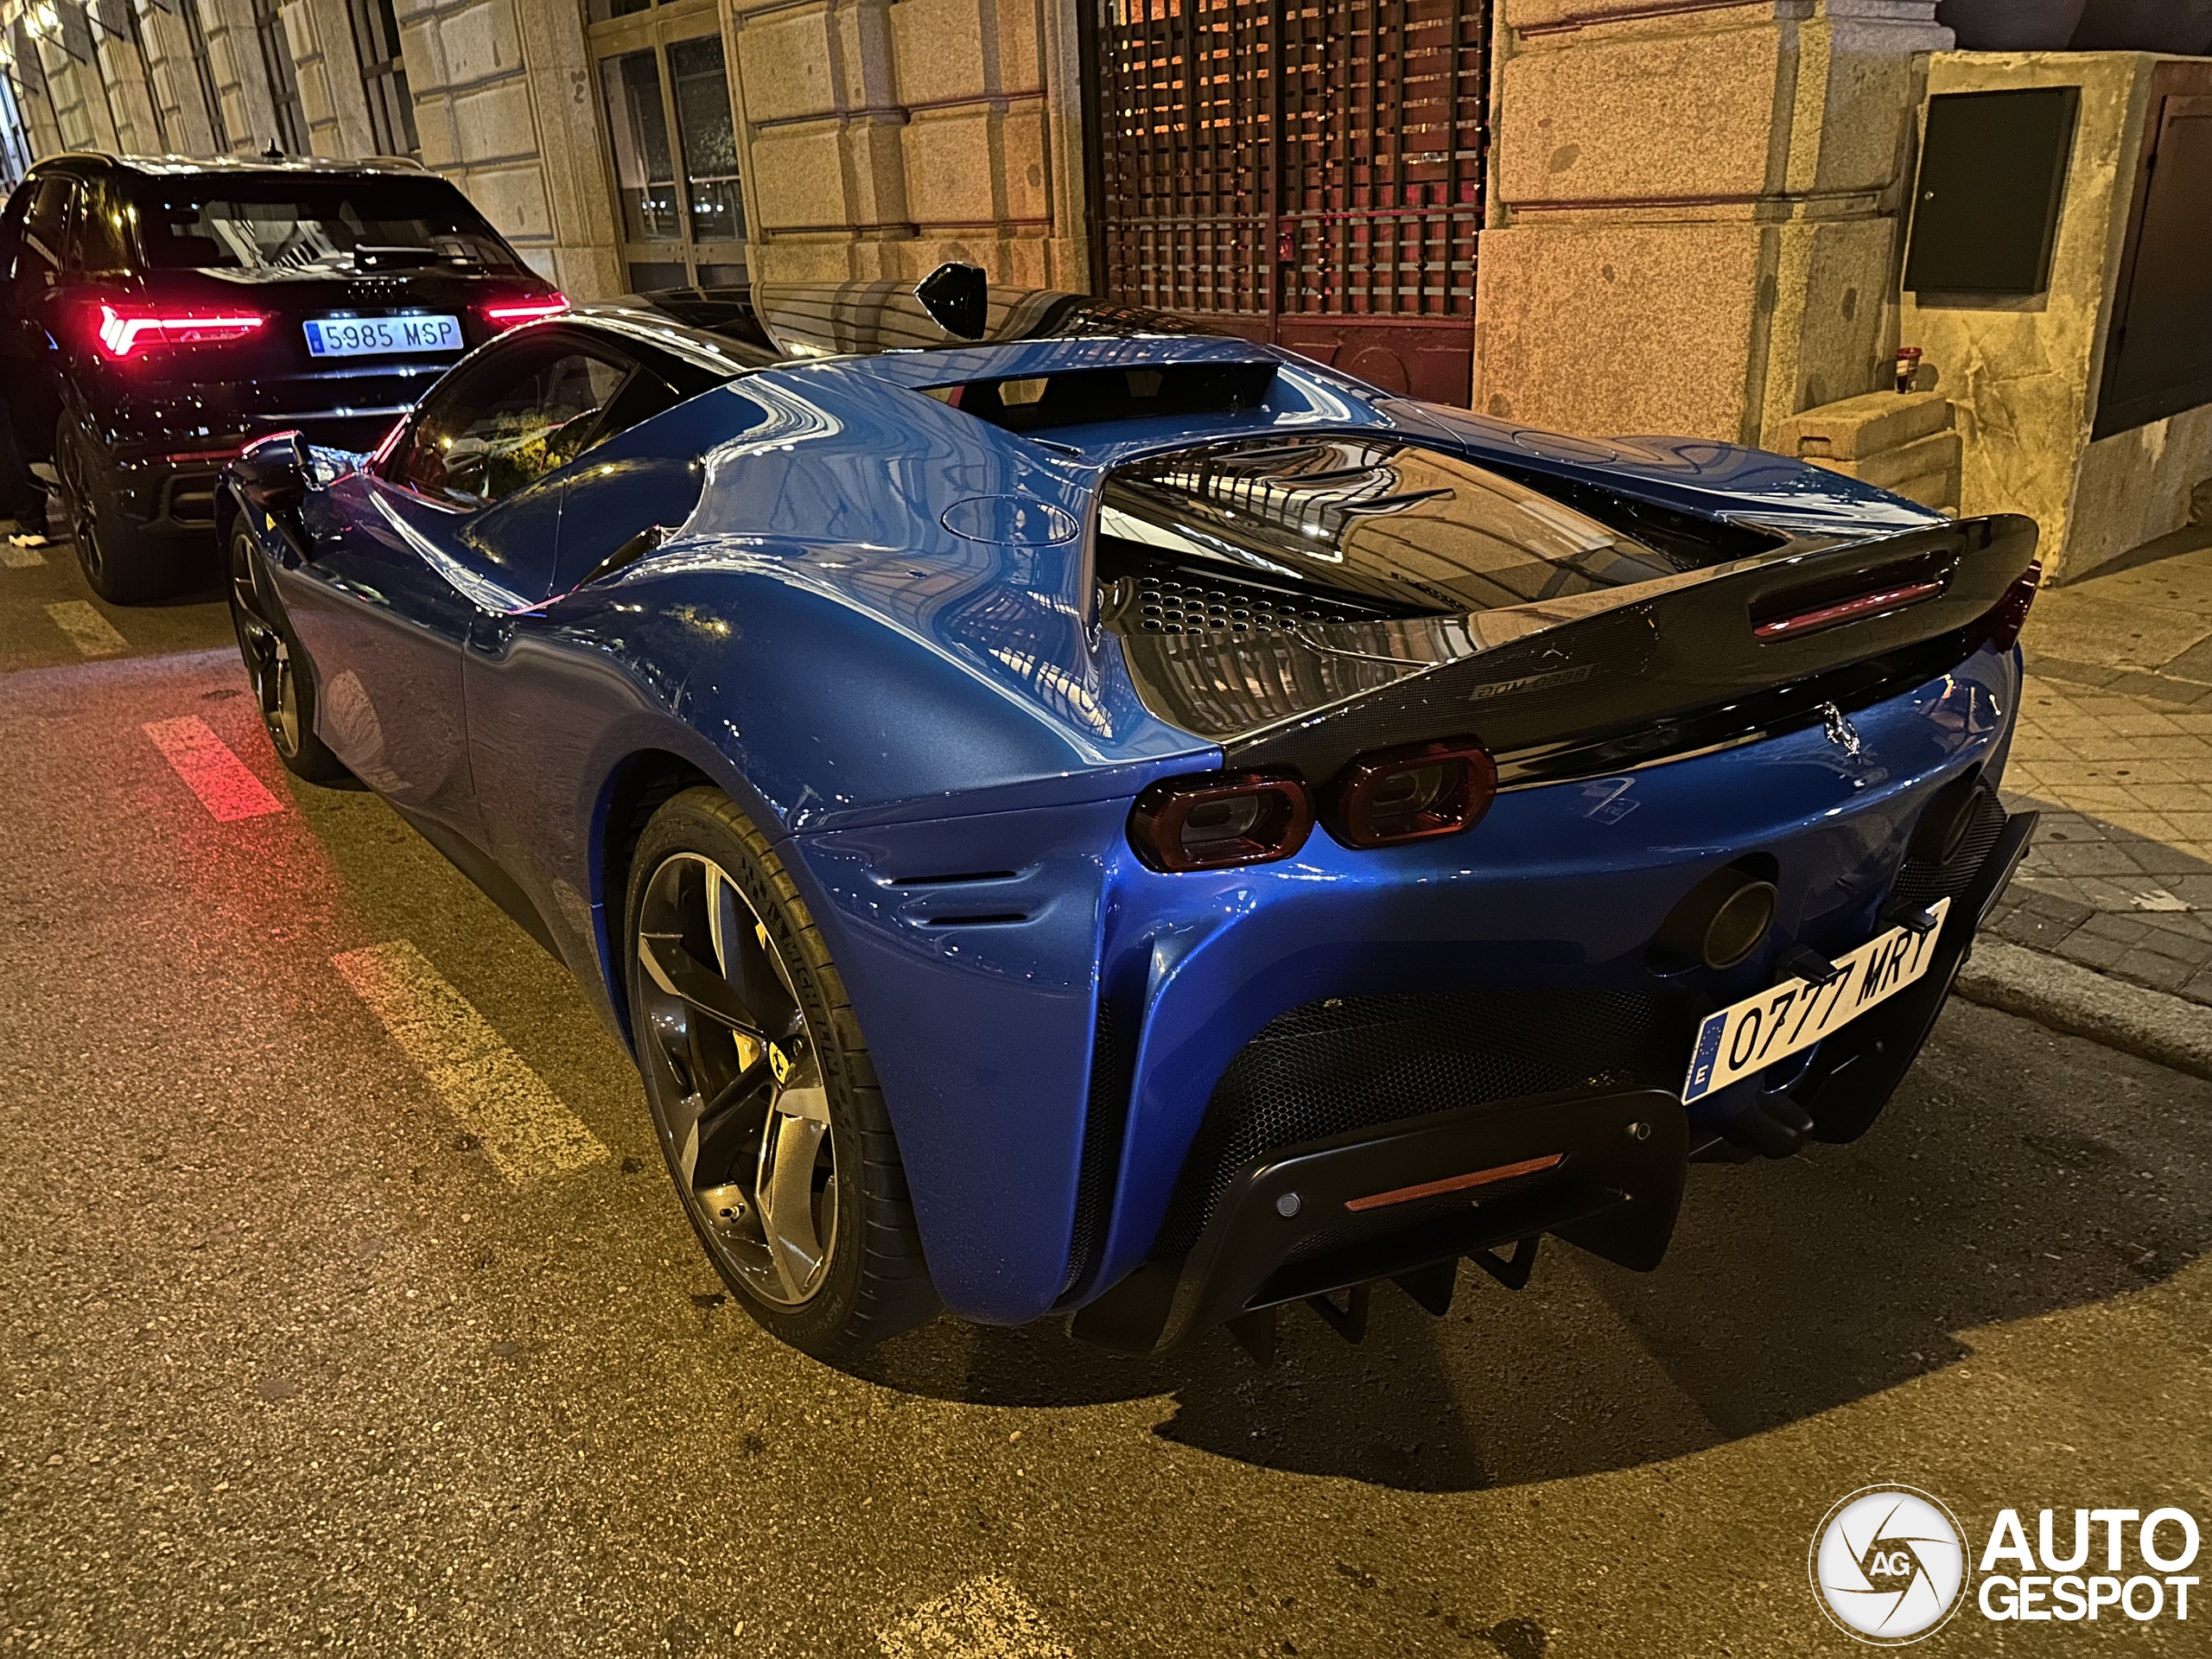
[[564,310],[407,161],[58,155],[0,215],[0,374],[104,599],[215,568],[215,478],[296,429],[374,449],[465,349]]

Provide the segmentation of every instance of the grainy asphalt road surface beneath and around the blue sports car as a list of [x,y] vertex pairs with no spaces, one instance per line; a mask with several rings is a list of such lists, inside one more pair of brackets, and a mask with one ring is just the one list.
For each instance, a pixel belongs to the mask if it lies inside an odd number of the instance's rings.
[[[219,604],[49,549],[0,670],[0,1652],[1845,1655],[1807,1544],[1869,1482],[1975,1548],[2212,1515],[2212,1084],[1955,1004],[1858,1146],[1694,1170],[1657,1274],[1548,1248],[1272,1371],[949,1321],[836,1371],[723,1301],[562,971],[290,785]],[[582,1155],[495,1159],[487,1077]]]

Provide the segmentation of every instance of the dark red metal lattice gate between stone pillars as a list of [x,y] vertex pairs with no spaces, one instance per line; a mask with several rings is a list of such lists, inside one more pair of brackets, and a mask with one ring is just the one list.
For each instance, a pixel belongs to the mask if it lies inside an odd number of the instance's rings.
[[1099,288],[1467,403],[1489,0],[1086,0]]

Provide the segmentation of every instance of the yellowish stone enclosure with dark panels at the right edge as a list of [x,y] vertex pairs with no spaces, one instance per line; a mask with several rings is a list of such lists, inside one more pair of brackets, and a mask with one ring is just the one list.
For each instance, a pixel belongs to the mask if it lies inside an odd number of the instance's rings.
[[1936,53],[1898,343],[1958,407],[1960,509],[2066,580],[2212,478],[2212,60]]

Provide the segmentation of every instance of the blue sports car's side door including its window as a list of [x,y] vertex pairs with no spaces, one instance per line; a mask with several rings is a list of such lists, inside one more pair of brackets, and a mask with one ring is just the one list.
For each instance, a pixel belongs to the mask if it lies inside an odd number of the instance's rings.
[[465,363],[380,462],[336,480],[279,575],[316,668],[316,732],[378,794],[482,845],[462,653],[546,597],[562,467],[593,440],[630,363],[531,330]]

